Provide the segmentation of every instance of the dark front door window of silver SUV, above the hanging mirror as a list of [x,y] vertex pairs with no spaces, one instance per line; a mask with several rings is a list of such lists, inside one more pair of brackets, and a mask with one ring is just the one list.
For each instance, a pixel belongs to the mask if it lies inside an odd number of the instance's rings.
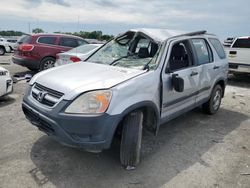
[[169,59],[169,69],[176,71],[192,65],[188,41],[181,41],[173,45]]

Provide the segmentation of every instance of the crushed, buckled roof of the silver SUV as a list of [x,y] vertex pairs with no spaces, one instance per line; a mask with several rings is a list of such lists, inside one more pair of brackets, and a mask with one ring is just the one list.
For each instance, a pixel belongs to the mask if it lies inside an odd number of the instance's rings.
[[194,35],[202,35],[202,34],[211,35],[211,34],[207,34],[205,30],[196,31],[196,32],[187,32],[184,30],[156,29],[156,28],[137,28],[137,29],[128,30],[127,32],[143,33],[157,42],[164,42],[165,40],[169,38],[177,37],[177,36],[194,36]]

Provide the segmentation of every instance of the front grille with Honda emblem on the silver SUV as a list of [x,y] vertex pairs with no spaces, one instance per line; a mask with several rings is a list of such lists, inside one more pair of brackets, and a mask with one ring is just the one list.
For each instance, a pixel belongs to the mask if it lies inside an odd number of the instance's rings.
[[64,94],[36,83],[31,90],[31,95],[45,106],[53,107]]

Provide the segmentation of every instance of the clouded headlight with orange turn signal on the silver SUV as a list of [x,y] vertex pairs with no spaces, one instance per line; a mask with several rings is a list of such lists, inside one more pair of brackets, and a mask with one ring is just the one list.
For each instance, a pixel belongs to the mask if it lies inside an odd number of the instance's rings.
[[65,112],[74,114],[104,113],[109,106],[111,95],[111,91],[108,90],[84,93],[76,98]]

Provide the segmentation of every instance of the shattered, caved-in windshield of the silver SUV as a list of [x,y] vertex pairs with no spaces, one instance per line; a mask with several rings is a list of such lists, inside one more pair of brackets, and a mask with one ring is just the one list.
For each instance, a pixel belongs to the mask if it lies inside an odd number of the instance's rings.
[[111,40],[87,61],[135,69],[153,67],[159,45],[136,32],[128,32]]

